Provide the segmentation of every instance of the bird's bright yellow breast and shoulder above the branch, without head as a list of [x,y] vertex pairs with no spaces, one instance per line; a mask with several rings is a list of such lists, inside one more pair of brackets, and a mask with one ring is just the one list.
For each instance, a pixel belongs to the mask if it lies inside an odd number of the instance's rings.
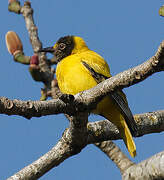
[[97,85],[82,61],[89,64],[97,73],[110,77],[107,63],[97,53],[87,50],[73,54],[57,65],[56,76],[62,93],[74,95]]

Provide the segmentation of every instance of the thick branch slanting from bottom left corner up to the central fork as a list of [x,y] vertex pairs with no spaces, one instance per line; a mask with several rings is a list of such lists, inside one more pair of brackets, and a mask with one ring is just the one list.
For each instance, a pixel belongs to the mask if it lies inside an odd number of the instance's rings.
[[65,159],[79,153],[86,146],[88,114],[80,113],[70,117],[70,121],[70,128],[65,130],[56,146],[8,180],[37,179]]

